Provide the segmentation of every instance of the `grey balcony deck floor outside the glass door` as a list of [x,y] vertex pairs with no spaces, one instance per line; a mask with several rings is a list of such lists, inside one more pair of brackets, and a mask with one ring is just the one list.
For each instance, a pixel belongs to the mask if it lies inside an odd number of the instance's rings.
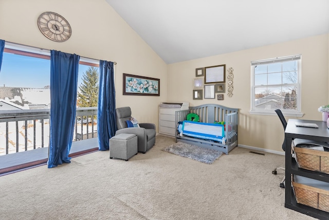
[[[72,142],[69,157],[98,151],[98,138]],[[48,147],[0,156],[0,175],[41,166],[47,163]]]

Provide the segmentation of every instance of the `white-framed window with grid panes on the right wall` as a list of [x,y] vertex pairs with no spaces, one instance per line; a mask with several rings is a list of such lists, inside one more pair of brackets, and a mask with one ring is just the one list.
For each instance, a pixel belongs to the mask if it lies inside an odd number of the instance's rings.
[[251,62],[251,114],[301,116],[301,55]]

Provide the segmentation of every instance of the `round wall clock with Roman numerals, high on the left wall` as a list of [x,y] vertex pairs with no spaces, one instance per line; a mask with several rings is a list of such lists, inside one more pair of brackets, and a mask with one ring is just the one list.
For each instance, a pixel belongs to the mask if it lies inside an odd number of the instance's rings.
[[40,14],[38,27],[46,38],[56,42],[67,41],[72,33],[70,24],[63,16],[49,11]]

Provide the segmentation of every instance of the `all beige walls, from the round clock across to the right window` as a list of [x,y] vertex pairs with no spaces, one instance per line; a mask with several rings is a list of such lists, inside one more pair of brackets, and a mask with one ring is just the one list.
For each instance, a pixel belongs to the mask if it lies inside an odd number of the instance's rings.
[[[68,41],[52,42],[41,34],[36,19],[45,11],[59,13],[70,23],[72,35]],[[239,144],[271,151],[282,152],[283,129],[277,116],[249,114],[250,61],[301,53],[303,119],[321,120],[317,108],[329,102],[327,34],[167,65],[104,0],[1,0],[0,39],[116,61],[117,107],[131,106],[140,122],[153,122],[157,127],[161,101],[240,108]],[[233,97],[226,93],[223,101],[193,100],[195,68],[221,64],[234,69]],[[123,96],[123,73],[159,78],[161,96]]]

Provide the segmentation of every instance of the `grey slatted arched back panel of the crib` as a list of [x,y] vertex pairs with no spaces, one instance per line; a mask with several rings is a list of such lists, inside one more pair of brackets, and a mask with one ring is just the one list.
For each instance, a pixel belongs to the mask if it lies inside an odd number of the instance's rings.
[[218,104],[204,104],[190,106],[189,112],[199,116],[200,122],[213,123],[214,121],[224,121],[225,115],[238,112],[239,108],[229,108]]

